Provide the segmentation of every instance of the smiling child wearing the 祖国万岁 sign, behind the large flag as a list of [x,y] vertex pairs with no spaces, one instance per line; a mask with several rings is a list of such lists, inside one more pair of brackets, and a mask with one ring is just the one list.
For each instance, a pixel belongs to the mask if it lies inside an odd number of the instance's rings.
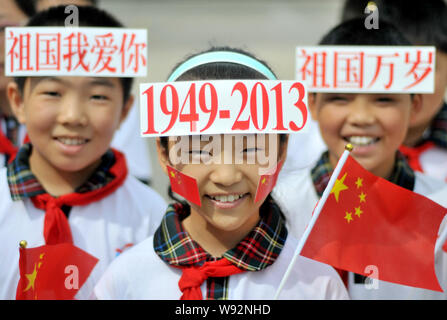
[[[391,24],[381,21],[380,29],[368,30],[363,19],[346,21],[332,29],[321,45],[409,45]],[[313,93],[309,95],[312,117],[318,121],[328,150],[311,170],[280,177],[273,198],[291,223],[291,232],[301,237],[330,175],[351,143],[351,155],[368,171],[416,193],[429,195],[445,184],[414,172],[398,151],[409,123],[421,109],[420,94],[346,94]],[[300,212],[296,213],[296,208]],[[408,266],[411,267],[411,266]],[[438,276],[440,275],[441,266]],[[444,271],[445,272],[445,271]],[[445,298],[429,290],[380,282],[378,290],[367,290],[358,276],[349,274],[348,289],[353,299]],[[379,274],[380,278],[380,274]]]

